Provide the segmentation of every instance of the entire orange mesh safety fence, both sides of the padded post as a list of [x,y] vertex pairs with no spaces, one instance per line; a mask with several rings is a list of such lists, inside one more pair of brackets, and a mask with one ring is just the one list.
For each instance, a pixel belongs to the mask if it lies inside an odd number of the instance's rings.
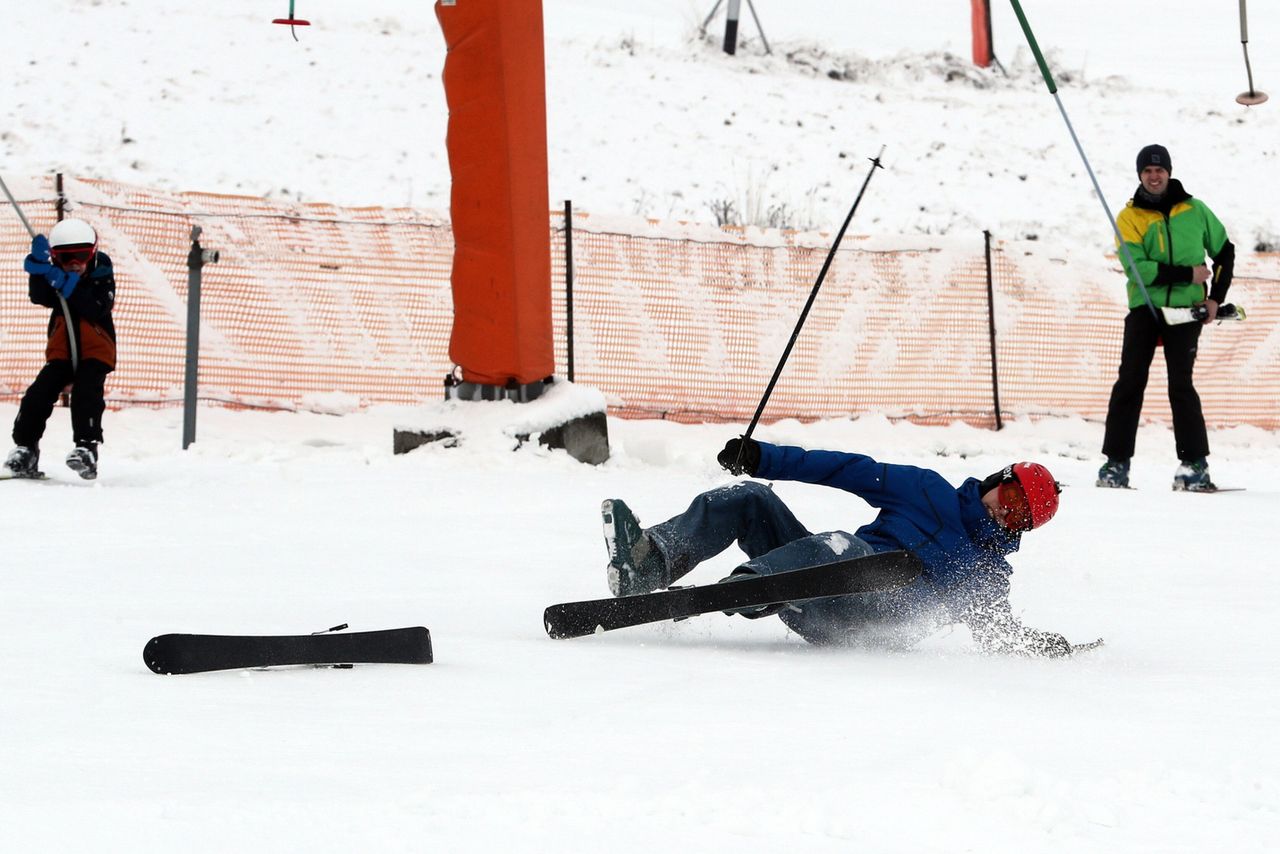
[[[54,222],[50,182],[10,186]],[[24,192],[26,191],[26,192]],[[68,181],[116,265],[111,405],[182,399],[189,234],[204,270],[201,398],[349,408],[440,399],[452,370],[448,223],[408,209],[289,205]],[[828,250],[827,234],[573,218],[575,380],[622,416],[748,421]],[[567,374],[563,216],[549,219],[557,374]],[[0,215],[0,398],[40,367],[49,312],[27,301],[28,239]],[[1215,426],[1280,429],[1280,256],[1242,254],[1243,324],[1201,338],[1197,388]],[[1005,415],[1101,419],[1115,379],[1124,286],[1115,259],[993,246]],[[993,425],[982,234],[847,236],[764,421],[881,412]],[[1144,416],[1169,421],[1157,355]]]

